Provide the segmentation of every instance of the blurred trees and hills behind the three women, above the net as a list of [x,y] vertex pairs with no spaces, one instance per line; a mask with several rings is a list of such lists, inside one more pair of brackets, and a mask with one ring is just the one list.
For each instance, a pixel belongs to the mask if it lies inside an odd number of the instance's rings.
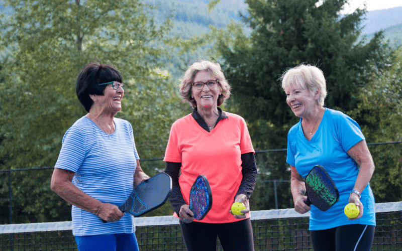
[[[66,130],[86,114],[75,81],[90,62],[126,84],[117,117],[133,126],[142,168],[164,170],[173,121],[191,112],[179,79],[217,61],[232,86],[258,167],[251,210],[293,208],[286,136],[298,119],[278,78],[306,62],[327,80],[325,106],[355,119],[376,170],[377,203],[402,200],[402,7],[347,0],[0,0],[0,224],[71,220],[50,190]],[[401,4],[402,5],[402,4]],[[147,214],[171,215],[169,203]]]

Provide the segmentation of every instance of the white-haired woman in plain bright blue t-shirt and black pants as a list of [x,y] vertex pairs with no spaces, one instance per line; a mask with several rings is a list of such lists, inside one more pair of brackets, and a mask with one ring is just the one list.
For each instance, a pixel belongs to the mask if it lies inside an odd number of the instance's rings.
[[[327,90],[319,68],[302,64],[286,71],[281,80],[286,103],[300,117],[287,136],[294,210],[311,210],[314,250],[370,250],[375,204],[369,181],[374,162],[359,125],[348,115],[323,107]],[[304,178],[316,165],[324,166],[339,190],[339,201],[325,212],[305,203]],[[360,209],[355,218],[344,214],[348,203]]]

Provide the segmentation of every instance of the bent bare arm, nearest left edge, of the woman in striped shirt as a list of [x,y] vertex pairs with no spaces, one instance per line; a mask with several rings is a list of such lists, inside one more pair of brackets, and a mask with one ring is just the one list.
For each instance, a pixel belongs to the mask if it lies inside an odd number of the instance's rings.
[[50,188],[68,203],[98,215],[100,218],[113,222],[123,217],[124,213],[116,205],[103,203],[82,192],[72,184],[74,172],[55,168]]

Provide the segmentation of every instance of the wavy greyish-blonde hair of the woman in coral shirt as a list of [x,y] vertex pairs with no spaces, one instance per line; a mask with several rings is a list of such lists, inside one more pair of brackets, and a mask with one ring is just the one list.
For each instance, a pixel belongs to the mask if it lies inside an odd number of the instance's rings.
[[197,107],[197,102],[191,97],[192,83],[194,82],[195,75],[200,71],[208,71],[216,80],[221,89],[222,94],[218,97],[218,106],[223,104],[230,96],[230,85],[223,74],[221,65],[216,62],[202,60],[193,63],[184,73],[184,78],[180,79],[179,91],[184,100],[187,100],[193,108]]

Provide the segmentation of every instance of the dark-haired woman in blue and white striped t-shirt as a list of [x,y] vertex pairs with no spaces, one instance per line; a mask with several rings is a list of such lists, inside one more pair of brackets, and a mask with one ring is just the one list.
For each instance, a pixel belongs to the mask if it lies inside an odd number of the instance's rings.
[[72,204],[78,250],[138,250],[133,216],[116,206],[149,178],[131,124],[115,118],[124,97],[122,75],[111,65],[91,63],[79,74],[76,92],[88,113],[63,137],[51,188]]

